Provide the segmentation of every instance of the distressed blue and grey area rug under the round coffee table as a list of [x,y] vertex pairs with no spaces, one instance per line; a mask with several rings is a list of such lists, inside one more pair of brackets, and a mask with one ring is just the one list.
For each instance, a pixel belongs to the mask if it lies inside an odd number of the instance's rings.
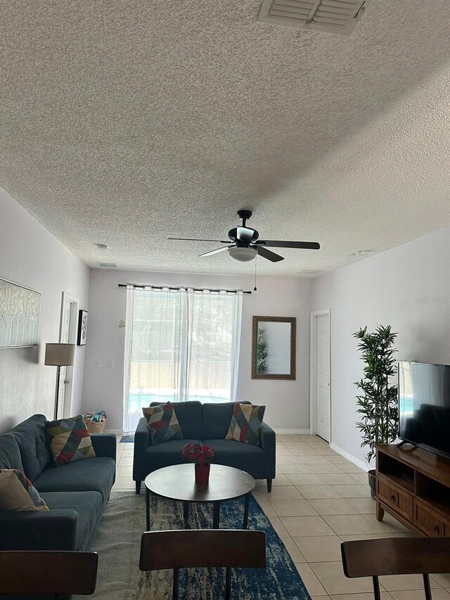
[[[166,600],[172,598],[172,570],[141,573],[139,550],[145,528],[145,494],[113,492],[91,550],[98,551],[98,580],[94,600]],[[220,527],[240,529],[243,499],[221,504]],[[198,527],[212,526],[212,505],[191,504],[191,521]],[[153,496],[152,530],[181,529],[180,502]],[[266,532],[266,568],[233,569],[231,597],[239,600],[311,600],[278,534],[255,499],[250,500],[249,528]],[[231,549],[232,551],[232,549]],[[181,569],[179,597],[182,600],[224,598],[224,569]]]

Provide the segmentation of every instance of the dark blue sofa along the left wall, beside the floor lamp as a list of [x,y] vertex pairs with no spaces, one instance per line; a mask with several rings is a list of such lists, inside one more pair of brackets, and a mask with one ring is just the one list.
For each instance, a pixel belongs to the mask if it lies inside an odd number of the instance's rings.
[[0,468],[23,471],[50,509],[0,511],[0,550],[87,551],[108,502],[115,435],[91,435],[96,458],[56,466],[45,425],[35,414],[0,435]]

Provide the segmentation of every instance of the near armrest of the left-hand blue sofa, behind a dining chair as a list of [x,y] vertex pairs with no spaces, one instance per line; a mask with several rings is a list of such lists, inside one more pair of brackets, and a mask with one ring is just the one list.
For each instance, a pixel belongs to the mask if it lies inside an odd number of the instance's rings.
[[77,511],[0,511],[0,550],[76,550]]

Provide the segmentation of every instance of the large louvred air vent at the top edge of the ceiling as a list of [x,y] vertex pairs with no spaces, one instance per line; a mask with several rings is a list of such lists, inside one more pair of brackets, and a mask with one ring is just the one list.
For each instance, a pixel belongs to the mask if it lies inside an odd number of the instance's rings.
[[348,35],[369,0],[263,0],[259,23]]

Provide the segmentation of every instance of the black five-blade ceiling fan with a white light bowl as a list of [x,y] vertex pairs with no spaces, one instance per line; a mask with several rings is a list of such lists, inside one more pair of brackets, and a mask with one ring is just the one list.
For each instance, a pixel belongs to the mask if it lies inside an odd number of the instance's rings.
[[[252,229],[247,226],[247,221],[252,216],[251,210],[238,210],[238,217],[242,219],[242,225],[230,229],[228,236],[229,241],[224,240],[200,240],[196,238],[167,238],[169,240],[181,240],[188,242],[217,242],[226,244],[221,248],[210,250],[200,254],[200,256],[211,256],[224,250],[228,250],[229,255],[233,260],[238,262],[248,262],[253,260],[257,254],[271,260],[272,262],[278,262],[278,260],[284,260],[283,256],[267,250],[267,246],[272,248],[307,248],[309,250],[319,250],[320,244],[317,242],[294,242],[294,241],[283,241],[283,240],[260,240],[259,234],[256,229]],[[230,241],[232,242],[230,244]]]

